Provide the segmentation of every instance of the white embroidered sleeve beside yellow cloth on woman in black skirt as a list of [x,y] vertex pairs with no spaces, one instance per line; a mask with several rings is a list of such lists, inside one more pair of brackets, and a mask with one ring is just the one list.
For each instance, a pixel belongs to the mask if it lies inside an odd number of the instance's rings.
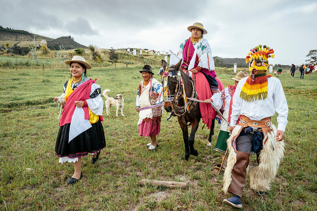
[[103,100],[101,98],[101,88],[98,84],[93,83],[91,85],[90,96],[86,101],[88,107],[94,114],[102,115]]

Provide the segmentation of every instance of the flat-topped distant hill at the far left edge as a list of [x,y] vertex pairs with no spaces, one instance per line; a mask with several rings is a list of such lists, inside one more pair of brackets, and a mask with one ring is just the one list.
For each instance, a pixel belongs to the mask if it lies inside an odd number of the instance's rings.
[[15,40],[15,41],[41,41],[41,39],[53,40],[53,38],[36,35],[24,30],[16,30],[16,29],[5,29],[0,28],[0,41],[7,41],[7,40]]

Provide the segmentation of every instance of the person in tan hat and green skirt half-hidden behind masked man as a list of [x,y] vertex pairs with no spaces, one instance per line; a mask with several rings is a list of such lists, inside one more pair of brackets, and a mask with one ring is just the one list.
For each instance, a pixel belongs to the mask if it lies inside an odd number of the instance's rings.
[[[247,72],[242,72],[240,71],[235,78],[230,78],[235,81],[235,85],[233,86],[227,86],[224,88],[220,93],[215,93],[212,95],[210,99],[206,99],[205,103],[209,103],[210,101],[213,102],[217,106],[217,108],[221,108],[225,104],[223,116],[224,118],[229,122],[227,123],[226,121],[222,121],[220,125],[220,131],[217,139],[216,146],[214,150],[216,152],[219,152],[222,154],[222,159],[224,158],[224,154],[226,153],[227,150],[227,139],[230,137],[229,133],[229,128],[230,128],[230,114],[231,114],[231,105],[232,105],[232,100],[231,97],[235,93],[236,86],[238,85],[238,82],[245,78],[248,77]],[[220,169],[220,164],[215,165],[215,169]],[[223,168],[223,170],[225,167]]]

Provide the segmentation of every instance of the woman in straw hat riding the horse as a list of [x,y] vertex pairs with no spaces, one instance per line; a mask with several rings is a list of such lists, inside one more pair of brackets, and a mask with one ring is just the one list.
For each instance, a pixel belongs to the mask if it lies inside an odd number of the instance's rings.
[[[210,45],[203,36],[207,34],[207,30],[199,22],[187,29],[191,32],[191,37],[184,40],[179,46],[177,56],[182,59],[181,69],[189,74],[195,83],[198,99],[205,100],[219,92],[218,86],[223,89],[223,85],[220,80],[216,79]],[[199,109],[203,123],[210,129],[216,111],[210,104],[204,103],[199,103]]]

